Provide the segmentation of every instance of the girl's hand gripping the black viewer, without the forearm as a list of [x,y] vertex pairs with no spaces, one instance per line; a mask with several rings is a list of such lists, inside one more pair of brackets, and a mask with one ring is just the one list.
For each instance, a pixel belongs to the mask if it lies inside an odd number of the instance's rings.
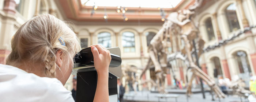
[[110,51],[101,45],[92,45],[91,52],[93,52],[94,67],[99,73],[108,73],[109,64],[111,61]]

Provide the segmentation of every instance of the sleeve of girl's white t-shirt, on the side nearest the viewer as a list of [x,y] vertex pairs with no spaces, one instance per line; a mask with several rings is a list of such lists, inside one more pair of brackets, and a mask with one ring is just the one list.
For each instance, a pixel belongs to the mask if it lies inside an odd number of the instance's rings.
[[54,81],[44,96],[42,102],[75,102],[71,91],[68,91],[60,81]]

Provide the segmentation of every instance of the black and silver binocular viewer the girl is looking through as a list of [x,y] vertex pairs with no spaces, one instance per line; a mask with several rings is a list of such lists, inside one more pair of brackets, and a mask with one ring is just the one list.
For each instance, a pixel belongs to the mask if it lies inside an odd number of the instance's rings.
[[[112,58],[109,65],[109,102],[118,102],[117,78],[122,76],[121,51],[119,47],[107,49]],[[77,75],[76,102],[93,102],[98,78],[90,47],[76,54],[72,74]]]

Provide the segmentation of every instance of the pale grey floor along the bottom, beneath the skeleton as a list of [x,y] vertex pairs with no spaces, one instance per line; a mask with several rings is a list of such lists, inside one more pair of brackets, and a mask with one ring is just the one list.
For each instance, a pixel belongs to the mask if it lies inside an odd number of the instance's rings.
[[[176,102],[175,98],[159,98],[159,93],[151,93],[150,91],[131,91],[124,96],[125,102]],[[215,101],[212,101],[212,96],[209,92],[206,92],[206,99],[203,99],[202,93],[192,94],[191,97],[187,98],[186,94],[170,94],[178,95],[177,102],[241,102],[240,97],[237,95],[229,95],[225,99],[215,98]],[[242,98],[242,102],[249,102],[248,99]],[[256,102],[256,101],[250,101]]]

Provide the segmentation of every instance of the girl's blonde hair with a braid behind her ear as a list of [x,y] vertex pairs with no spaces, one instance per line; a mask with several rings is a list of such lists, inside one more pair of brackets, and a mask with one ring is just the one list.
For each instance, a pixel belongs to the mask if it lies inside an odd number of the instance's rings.
[[[65,46],[60,43],[60,37]],[[49,14],[35,16],[23,24],[14,35],[11,47],[6,64],[17,65],[22,61],[41,63],[45,66],[45,76],[50,78],[56,76],[57,50],[63,51],[68,60],[72,60],[81,50],[80,42],[71,28],[64,21]]]

